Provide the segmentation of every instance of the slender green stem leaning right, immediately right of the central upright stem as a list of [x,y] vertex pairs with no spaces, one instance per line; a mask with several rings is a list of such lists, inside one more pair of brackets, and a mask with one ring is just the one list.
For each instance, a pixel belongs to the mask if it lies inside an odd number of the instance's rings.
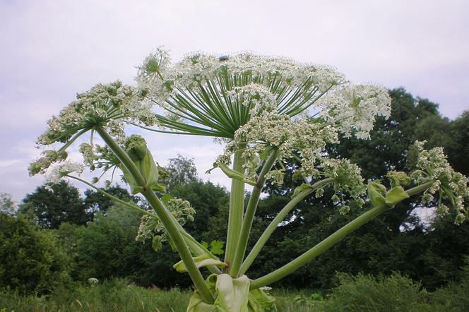
[[238,239],[235,259],[233,260],[232,265],[230,265],[230,275],[234,278],[238,277],[239,268],[244,258],[244,253],[246,253],[249,232],[251,232],[252,222],[254,220],[254,215],[256,214],[257,205],[259,204],[259,197],[261,196],[262,188],[266,183],[266,174],[271,171],[275,160],[277,160],[277,151],[273,150],[263,165],[261,172],[259,173],[259,179],[257,179],[256,185],[252,189],[251,196],[249,197],[246,214],[244,215],[241,228],[241,234]]

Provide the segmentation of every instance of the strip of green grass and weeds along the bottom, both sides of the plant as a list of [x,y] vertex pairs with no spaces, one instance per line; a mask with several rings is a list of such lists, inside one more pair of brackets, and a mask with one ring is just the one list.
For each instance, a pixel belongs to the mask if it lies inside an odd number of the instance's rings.
[[[275,289],[277,311],[469,311],[469,279],[453,282],[436,292],[398,273],[379,275],[338,275],[338,285],[329,294],[311,289]],[[186,311],[191,291],[187,289],[143,288],[125,279],[99,284],[73,284],[48,296],[22,296],[0,290],[0,312]]]

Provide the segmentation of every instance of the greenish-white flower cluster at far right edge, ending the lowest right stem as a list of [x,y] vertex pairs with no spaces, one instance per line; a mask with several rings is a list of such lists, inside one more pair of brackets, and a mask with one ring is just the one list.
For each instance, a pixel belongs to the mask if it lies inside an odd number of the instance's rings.
[[459,172],[455,172],[446,160],[443,148],[432,148],[425,150],[425,142],[415,142],[419,155],[417,158],[417,170],[410,177],[416,184],[433,182],[432,186],[424,195],[424,200],[433,199],[439,191],[439,212],[448,212],[449,208],[442,203],[448,201],[456,210],[456,224],[461,224],[469,215],[469,209],[464,203],[469,200],[469,179]]

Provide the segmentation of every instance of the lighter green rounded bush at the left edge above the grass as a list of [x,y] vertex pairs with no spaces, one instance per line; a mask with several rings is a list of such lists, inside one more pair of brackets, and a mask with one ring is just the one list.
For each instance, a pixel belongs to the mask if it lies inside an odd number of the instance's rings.
[[69,258],[54,234],[23,215],[0,214],[0,288],[44,294],[69,282]]

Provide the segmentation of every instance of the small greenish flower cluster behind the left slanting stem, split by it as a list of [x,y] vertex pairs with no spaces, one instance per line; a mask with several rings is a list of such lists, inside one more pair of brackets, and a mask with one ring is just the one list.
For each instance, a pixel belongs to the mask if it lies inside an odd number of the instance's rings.
[[[166,208],[170,210],[179,224],[184,225],[187,221],[194,221],[196,210],[191,207],[189,201],[180,198],[166,199],[163,197],[162,199],[165,202]],[[165,227],[158,216],[155,215],[155,212],[153,210],[149,212],[151,215],[143,215],[141,217],[136,241],[145,243],[148,239],[153,239],[153,248],[156,251],[160,251],[162,243],[170,239],[170,236],[167,235]]]

